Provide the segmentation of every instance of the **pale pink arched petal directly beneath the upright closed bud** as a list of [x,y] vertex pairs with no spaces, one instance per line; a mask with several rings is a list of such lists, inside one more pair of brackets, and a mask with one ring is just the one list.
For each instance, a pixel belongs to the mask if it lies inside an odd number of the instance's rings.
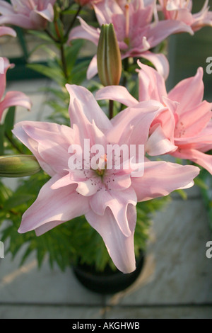
[[124,86],[105,86],[105,88],[100,89],[96,93],[95,98],[97,100],[108,99],[117,101],[125,106],[134,106],[139,103]]

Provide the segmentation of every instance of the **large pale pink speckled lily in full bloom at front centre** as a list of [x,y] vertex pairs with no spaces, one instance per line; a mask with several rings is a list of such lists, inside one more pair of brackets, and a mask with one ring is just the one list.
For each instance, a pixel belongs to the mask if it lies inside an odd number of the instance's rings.
[[[150,125],[164,107],[157,101],[142,102],[109,120],[86,88],[68,84],[66,89],[71,97],[71,128],[55,123],[23,121],[13,130],[52,177],[23,215],[18,231],[35,230],[39,236],[63,222],[85,215],[102,236],[117,268],[130,273],[136,268],[137,201],[167,196],[177,188],[192,186],[199,168],[146,159],[144,174],[134,168],[133,175],[131,166],[116,169],[112,164],[111,169],[106,168],[110,156],[104,154],[99,159],[98,169],[84,159],[81,168],[70,169],[69,158],[76,149],[73,145],[80,145],[83,153],[88,153],[93,145],[146,145]],[[90,145],[85,149],[83,144],[88,139]],[[126,162],[129,159],[122,157],[122,165]],[[134,166],[138,165],[134,161]]]

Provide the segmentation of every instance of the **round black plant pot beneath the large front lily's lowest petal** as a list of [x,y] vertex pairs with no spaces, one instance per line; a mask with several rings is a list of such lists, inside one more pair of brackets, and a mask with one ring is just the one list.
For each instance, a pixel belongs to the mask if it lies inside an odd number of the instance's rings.
[[136,271],[124,274],[120,271],[112,271],[110,266],[107,266],[105,271],[97,272],[91,266],[86,264],[73,266],[73,272],[83,286],[95,293],[114,294],[122,291],[136,281],[140,275],[144,264],[143,252],[136,260]]

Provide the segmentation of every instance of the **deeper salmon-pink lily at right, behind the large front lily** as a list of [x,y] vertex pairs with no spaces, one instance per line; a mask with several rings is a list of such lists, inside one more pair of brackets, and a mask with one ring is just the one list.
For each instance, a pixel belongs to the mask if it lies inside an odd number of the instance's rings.
[[[150,140],[166,137],[173,145],[168,154],[189,159],[212,174],[212,156],[205,154],[212,149],[212,103],[203,101],[203,69],[200,67],[195,77],[182,80],[167,94],[163,77],[141,62],[139,66],[139,101],[155,100],[167,106],[151,124]],[[97,99],[109,97],[126,106],[139,103],[123,86],[105,87],[96,95]]]

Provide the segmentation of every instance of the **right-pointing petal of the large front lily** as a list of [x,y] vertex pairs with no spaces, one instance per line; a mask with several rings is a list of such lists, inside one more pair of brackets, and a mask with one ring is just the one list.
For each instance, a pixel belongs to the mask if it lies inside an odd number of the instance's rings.
[[189,188],[194,185],[193,179],[198,176],[196,166],[182,166],[169,162],[145,162],[141,178],[131,179],[138,201],[151,200],[167,196],[172,191]]

